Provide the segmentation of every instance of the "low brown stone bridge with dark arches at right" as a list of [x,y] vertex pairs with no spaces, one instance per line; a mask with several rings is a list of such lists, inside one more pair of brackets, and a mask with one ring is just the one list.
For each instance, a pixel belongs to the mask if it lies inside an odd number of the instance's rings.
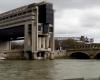
[[100,59],[100,44],[87,44],[67,49],[66,56],[73,59]]

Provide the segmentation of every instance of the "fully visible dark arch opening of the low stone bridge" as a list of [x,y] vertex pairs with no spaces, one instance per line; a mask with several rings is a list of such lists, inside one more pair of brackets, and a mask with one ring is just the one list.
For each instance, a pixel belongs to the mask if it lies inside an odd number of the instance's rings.
[[72,58],[72,59],[90,59],[90,57],[87,54],[82,53],[82,52],[72,53],[70,55],[70,58]]

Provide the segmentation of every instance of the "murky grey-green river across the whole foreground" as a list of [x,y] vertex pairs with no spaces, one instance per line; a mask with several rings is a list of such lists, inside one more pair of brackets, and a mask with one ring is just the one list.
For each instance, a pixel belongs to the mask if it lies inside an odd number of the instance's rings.
[[70,78],[99,78],[99,76],[99,60],[0,61],[0,80],[66,80]]

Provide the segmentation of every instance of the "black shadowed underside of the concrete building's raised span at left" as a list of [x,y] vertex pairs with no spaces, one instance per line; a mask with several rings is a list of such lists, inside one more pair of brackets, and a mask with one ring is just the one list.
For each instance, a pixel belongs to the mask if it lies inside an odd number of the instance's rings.
[[0,29],[0,40],[15,39],[17,37],[24,37],[24,26],[16,26],[5,29]]

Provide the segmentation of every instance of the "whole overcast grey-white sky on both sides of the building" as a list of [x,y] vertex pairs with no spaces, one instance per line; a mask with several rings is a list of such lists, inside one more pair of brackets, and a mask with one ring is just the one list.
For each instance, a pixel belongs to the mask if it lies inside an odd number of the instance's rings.
[[[0,0],[0,13],[37,1],[40,0]],[[55,36],[83,35],[100,42],[100,0],[48,1],[54,4]]]

